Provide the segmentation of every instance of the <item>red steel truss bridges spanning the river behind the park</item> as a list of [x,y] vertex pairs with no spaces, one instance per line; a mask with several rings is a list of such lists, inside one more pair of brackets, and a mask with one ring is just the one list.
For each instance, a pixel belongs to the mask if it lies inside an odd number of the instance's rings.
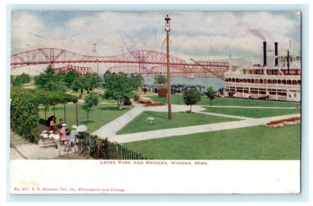
[[[109,57],[87,56],[69,52],[63,49],[35,49],[11,56],[11,70],[38,64],[54,64],[59,63],[120,63],[132,64],[124,66],[111,67],[109,70],[125,74],[154,74],[167,73],[167,55],[156,51],[138,50],[126,54]],[[188,64],[184,60],[170,55],[170,72],[171,73],[207,73],[208,70],[212,72],[226,72],[229,68],[227,62],[198,62],[206,69],[196,63]],[[138,66],[134,66],[137,64]],[[146,66],[151,65],[150,68]],[[73,66],[72,66],[73,67]],[[80,67],[85,68],[85,67]],[[65,69],[65,67],[64,67]],[[86,69],[86,68],[85,68]],[[92,72],[91,68],[89,68]],[[86,69],[87,70],[87,69]],[[86,71],[80,70],[80,71]],[[82,74],[82,73],[81,73]]]

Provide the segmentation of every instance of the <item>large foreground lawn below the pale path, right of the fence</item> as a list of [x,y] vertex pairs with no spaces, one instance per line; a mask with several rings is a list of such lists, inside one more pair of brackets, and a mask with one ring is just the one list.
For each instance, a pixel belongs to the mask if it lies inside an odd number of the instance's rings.
[[300,125],[244,127],[123,145],[161,160],[300,160]]

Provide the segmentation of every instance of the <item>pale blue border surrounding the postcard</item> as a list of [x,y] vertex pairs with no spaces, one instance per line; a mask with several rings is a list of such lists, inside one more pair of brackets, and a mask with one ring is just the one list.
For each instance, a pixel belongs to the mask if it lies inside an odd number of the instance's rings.
[[[172,10],[172,11],[225,11],[229,10],[229,8],[235,8],[235,10],[238,11],[287,11],[287,10],[293,10],[293,11],[301,11],[301,56],[302,56],[302,85],[309,85],[309,64],[308,64],[308,53],[309,53],[309,47],[308,47],[308,40],[309,40],[309,5],[305,4],[298,4],[298,5],[258,5],[257,9],[254,7],[254,5],[43,5],[43,4],[33,4],[33,5],[7,5],[7,27],[6,27],[6,39],[7,39],[7,48],[6,48],[6,68],[10,68],[10,12],[13,10],[75,10],[75,11],[157,11],[157,10]],[[232,9],[234,10],[234,9]],[[7,72],[6,75],[6,82],[10,81],[9,79],[9,72]],[[9,86],[6,87],[7,92],[7,100],[9,100],[10,96],[10,90]],[[302,111],[309,111],[309,88],[308,87],[302,87],[301,89],[301,100],[302,100]],[[10,128],[9,128],[9,121],[10,121],[10,113],[9,113],[9,101],[6,102],[7,110],[6,110],[6,177],[7,177],[7,191],[6,191],[6,199],[8,202],[17,202],[17,201],[25,201],[25,202],[43,202],[43,201],[53,201],[50,200],[50,195],[10,195],[9,194],[9,134],[10,134]],[[121,195],[122,201],[138,201],[138,202],[151,202],[151,201],[194,201],[197,200],[198,202],[224,202],[224,201],[273,201],[273,202],[280,202],[280,201],[298,201],[298,202],[305,202],[309,200],[309,194],[308,194],[308,188],[309,188],[309,114],[307,112],[301,113],[301,193],[300,194],[278,194],[278,195],[266,195],[266,194],[241,194],[241,195],[228,195],[228,194],[222,194],[222,195],[214,195],[214,194],[194,194],[194,195],[183,195],[183,194],[173,194],[173,195]],[[74,195],[54,195],[56,198],[54,198],[55,201],[70,201],[70,197],[73,197]],[[116,195],[92,195],[92,194],[85,194],[81,195],[83,196],[85,201],[115,201]],[[77,197],[77,195],[75,195]],[[31,199],[31,200],[30,200]]]

